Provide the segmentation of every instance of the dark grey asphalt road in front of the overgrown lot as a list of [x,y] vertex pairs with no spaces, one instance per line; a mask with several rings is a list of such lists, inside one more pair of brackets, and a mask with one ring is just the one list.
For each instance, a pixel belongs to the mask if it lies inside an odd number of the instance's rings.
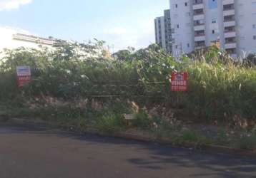
[[1,178],[256,177],[256,160],[0,125]]

